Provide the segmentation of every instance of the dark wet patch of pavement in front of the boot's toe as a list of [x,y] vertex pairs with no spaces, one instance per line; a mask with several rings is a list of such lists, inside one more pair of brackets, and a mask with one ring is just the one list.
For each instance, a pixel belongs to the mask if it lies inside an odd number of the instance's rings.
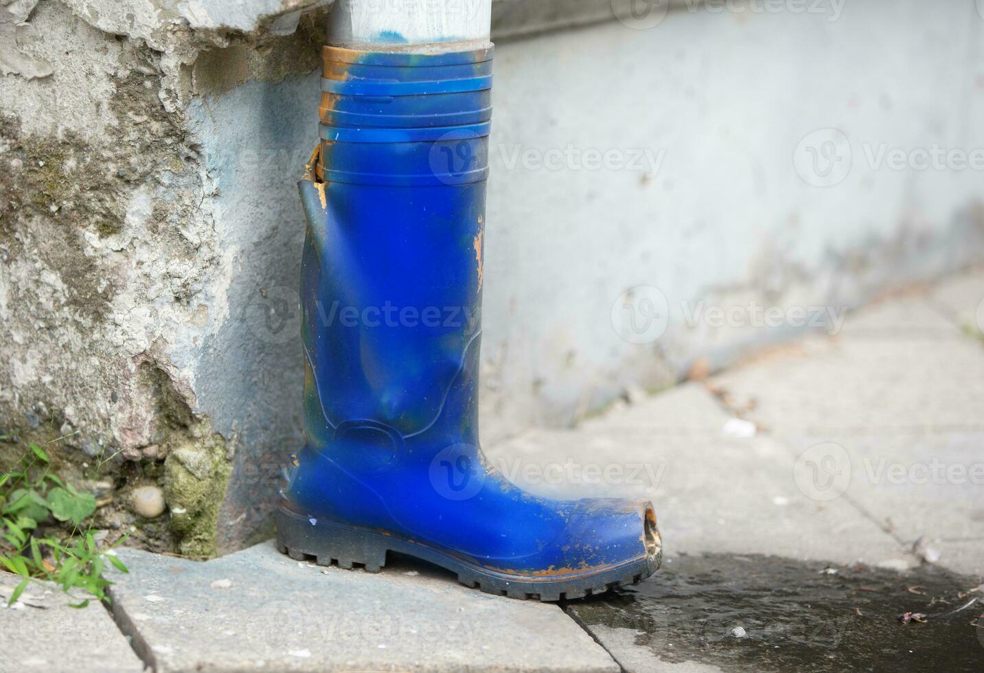
[[[618,596],[572,601],[623,669],[984,671],[984,586],[769,556],[680,555]],[[907,615],[907,617],[905,616]]]

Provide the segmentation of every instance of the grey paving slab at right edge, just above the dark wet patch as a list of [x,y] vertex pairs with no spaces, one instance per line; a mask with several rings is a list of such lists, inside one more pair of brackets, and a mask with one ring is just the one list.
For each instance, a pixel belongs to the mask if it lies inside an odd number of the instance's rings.
[[[953,571],[984,577],[984,433],[801,435],[823,499],[843,495],[904,546],[923,538],[929,556]],[[849,475],[842,479],[838,475]],[[924,555],[925,556],[925,555]]]

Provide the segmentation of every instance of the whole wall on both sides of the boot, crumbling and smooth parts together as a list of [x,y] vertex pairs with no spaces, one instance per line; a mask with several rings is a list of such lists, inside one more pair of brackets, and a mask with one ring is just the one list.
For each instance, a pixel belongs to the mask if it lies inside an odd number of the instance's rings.
[[[98,525],[241,546],[300,438],[325,9],[31,4],[0,58],[0,428],[77,433],[59,466]],[[612,7],[493,5],[486,441],[984,256],[974,2]],[[170,512],[132,512],[142,483]]]

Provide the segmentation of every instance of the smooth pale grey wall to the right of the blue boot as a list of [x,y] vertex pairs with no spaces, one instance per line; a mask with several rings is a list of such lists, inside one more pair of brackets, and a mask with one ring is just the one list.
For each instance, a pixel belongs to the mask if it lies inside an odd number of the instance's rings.
[[[667,371],[696,359],[720,365],[796,331],[795,313],[756,327],[752,302],[839,312],[982,259],[984,166],[877,160],[883,149],[917,159],[934,146],[984,149],[977,7],[799,5],[818,11],[716,3],[670,10],[651,28],[627,20],[500,44],[486,417],[571,422],[627,387],[665,385]],[[797,170],[810,169],[809,146],[826,150],[825,129],[850,144],[838,148],[849,171],[827,187]],[[615,164],[651,156],[644,170],[589,169],[577,154],[544,167],[568,149],[614,151]],[[664,302],[641,343],[612,322],[635,286],[658,290],[629,301],[640,328],[643,302]],[[738,320],[716,327],[714,308]]]

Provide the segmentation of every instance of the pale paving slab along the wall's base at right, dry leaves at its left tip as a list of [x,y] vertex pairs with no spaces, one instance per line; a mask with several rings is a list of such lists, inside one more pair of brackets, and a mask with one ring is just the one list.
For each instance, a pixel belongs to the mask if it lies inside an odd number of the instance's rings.
[[984,429],[984,348],[963,335],[811,337],[711,385],[770,430]]

